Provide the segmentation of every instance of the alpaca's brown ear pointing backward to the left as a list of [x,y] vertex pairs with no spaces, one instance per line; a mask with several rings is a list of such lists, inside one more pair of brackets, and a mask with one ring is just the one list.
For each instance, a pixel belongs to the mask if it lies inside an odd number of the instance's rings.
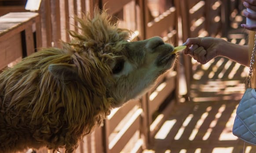
[[50,64],[48,70],[60,80],[78,80],[78,70],[74,64]]

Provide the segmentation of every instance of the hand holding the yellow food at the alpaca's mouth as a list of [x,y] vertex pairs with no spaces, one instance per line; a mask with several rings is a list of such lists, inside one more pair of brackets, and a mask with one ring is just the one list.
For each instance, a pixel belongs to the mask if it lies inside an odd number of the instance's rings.
[[221,44],[221,41],[223,40],[213,37],[188,38],[183,44],[187,46],[183,53],[193,57],[198,63],[205,64],[219,56],[219,44]]

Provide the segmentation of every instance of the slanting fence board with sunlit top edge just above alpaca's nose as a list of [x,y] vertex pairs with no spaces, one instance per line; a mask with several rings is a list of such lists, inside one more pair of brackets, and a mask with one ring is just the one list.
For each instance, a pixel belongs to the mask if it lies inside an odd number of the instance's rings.
[[169,10],[165,11],[159,17],[155,18],[154,21],[148,23],[146,31],[146,38],[151,38],[153,36],[161,36],[162,32],[168,30],[169,27],[176,26],[176,9],[171,7]]

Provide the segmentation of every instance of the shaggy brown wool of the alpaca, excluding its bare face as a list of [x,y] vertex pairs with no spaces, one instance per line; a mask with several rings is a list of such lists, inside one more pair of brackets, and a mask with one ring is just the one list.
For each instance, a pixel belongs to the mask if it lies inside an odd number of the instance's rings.
[[104,11],[77,18],[82,32],[69,31],[74,40],[63,49],[43,49],[0,73],[0,153],[42,146],[71,153],[101,124],[115,102],[104,86],[108,65],[129,35],[110,20]]

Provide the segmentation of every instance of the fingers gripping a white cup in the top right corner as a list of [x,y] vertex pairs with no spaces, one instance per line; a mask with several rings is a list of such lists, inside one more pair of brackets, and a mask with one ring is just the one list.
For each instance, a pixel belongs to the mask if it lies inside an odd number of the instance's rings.
[[[255,11],[256,12],[256,0],[243,0],[243,5],[250,9],[251,11],[248,10],[243,10],[243,14],[245,17],[256,21],[256,13],[252,12]],[[256,24],[241,24],[241,27],[246,28],[248,30],[252,30],[252,31],[256,31]]]

